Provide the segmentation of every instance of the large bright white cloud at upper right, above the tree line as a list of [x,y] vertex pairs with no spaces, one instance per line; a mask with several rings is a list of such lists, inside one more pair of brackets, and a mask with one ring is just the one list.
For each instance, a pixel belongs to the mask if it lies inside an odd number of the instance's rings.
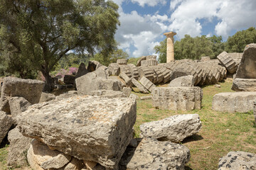
[[211,22],[218,18],[215,33],[228,38],[232,30],[240,30],[255,26],[255,0],[174,0],[170,8],[171,14],[169,30],[174,30],[180,38],[185,34],[201,35],[201,19]]

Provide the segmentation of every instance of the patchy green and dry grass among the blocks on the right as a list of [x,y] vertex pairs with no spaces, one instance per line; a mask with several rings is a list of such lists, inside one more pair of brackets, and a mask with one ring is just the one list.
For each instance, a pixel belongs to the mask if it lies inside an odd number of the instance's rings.
[[151,101],[137,101],[137,122],[135,136],[139,137],[139,125],[153,120],[161,120],[171,115],[197,113],[202,122],[198,135],[188,137],[183,145],[191,151],[191,160],[186,169],[218,169],[218,159],[230,151],[256,153],[255,119],[248,113],[221,113],[211,109],[213,96],[230,92],[232,79],[221,82],[221,88],[203,87],[201,110],[168,111],[152,108]]

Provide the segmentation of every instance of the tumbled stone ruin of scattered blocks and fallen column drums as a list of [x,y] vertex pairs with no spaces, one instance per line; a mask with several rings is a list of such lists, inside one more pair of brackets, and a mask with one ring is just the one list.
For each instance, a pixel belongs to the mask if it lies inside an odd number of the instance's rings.
[[[202,57],[163,64],[154,55],[141,57],[137,65],[126,59],[108,67],[90,61],[87,67],[81,64],[76,75],[54,78],[76,88],[59,96],[42,93],[43,81],[6,77],[0,142],[6,137],[10,142],[7,163],[17,167],[27,160],[38,170],[183,170],[191,153],[178,143],[201,130],[199,115],[144,123],[140,138],[134,138],[139,96],[132,91],[149,94],[140,99],[151,100],[156,109],[191,111],[201,109],[201,86],[218,84],[236,72],[233,89],[238,92],[216,94],[213,110],[254,109],[256,115],[255,49],[251,44],[242,55],[222,52],[217,60]],[[254,168],[255,162],[255,154],[230,152],[220,159],[219,169]]]

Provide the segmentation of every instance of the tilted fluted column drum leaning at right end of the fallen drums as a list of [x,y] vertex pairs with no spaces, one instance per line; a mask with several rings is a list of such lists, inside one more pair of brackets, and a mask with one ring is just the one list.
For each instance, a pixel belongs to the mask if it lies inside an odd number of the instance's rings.
[[220,60],[221,64],[223,64],[228,72],[231,74],[235,73],[238,69],[238,65],[235,63],[232,57],[228,55],[227,52],[221,52],[220,55],[217,56],[218,60]]

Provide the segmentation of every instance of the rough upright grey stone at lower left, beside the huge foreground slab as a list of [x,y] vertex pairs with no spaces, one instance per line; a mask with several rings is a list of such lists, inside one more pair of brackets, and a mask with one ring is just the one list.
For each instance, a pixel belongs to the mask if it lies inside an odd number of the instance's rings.
[[8,133],[8,140],[10,142],[7,164],[11,167],[25,166],[26,153],[31,145],[31,138],[24,137],[18,128],[14,128]]

